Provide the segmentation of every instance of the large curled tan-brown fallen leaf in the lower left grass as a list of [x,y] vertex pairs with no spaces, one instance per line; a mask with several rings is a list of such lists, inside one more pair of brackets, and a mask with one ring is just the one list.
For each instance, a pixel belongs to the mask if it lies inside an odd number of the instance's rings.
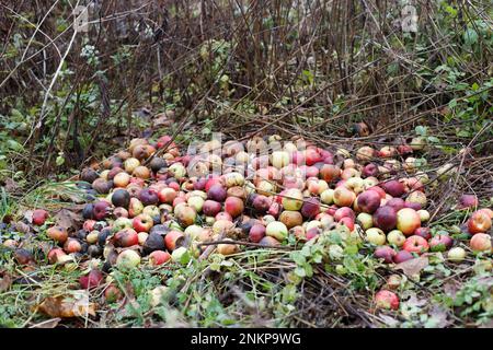
[[65,295],[48,296],[36,308],[54,318],[95,316],[95,304],[89,302],[89,292],[85,290],[71,291]]

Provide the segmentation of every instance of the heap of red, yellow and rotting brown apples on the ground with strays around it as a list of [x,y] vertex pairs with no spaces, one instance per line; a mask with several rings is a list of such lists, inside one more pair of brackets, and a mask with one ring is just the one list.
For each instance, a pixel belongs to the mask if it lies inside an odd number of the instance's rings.
[[[362,147],[352,156],[302,138],[271,136],[223,144],[211,140],[183,152],[168,136],[152,143],[134,139],[128,150],[81,172],[78,186],[92,198],[82,212],[85,221],[70,232],[47,229],[58,244],[48,259],[103,257],[106,270],[158,266],[211,248],[232,255],[244,246],[278,246],[288,236],[302,243],[345,225],[389,264],[428,250],[448,250],[448,258],[459,261],[466,250],[452,247],[448,235],[432,236],[426,226],[425,186],[432,175],[414,158],[423,147],[416,138],[380,150]],[[438,170],[438,177],[450,168]],[[460,203],[475,208],[478,199],[465,195]],[[36,210],[33,222],[43,224],[47,215]],[[492,218],[490,209],[470,217],[472,250],[491,253]],[[94,284],[100,278],[90,275],[81,282]],[[381,291],[377,301],[391,308],[399,304],[390,291]]]

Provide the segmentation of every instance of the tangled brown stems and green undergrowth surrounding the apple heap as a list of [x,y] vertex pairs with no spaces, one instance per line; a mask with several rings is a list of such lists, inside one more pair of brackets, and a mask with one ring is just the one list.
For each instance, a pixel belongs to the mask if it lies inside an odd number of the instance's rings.
[[[90,7],[89,30],[74,33],[79,3],[0,2],[3,223],[26,208],[70,206],[77,190],[59,180],[133,137],[161,131],[183,144],[216,131],[353,147],[420,136],[431,145],[429,168],[450,162],[461,170],[434,189],[436,230],[466,220],[450,211],[458,192],[491,207],[491,1],[412,1],[415,32],[401,13],[406,1],[263,0],[105,1]],[[54,192],[62,196],[47,201]],[[326,240],[311,249],[326,254],[323,245],[336,237]],[[317,254],[257,249],[117,272],[128,302],[73,326],[491,326],[483,260],[458,270],[437,255],[421,280],[404,277],[406,312],[395,319],[370,304],[386,267],[351,245],[345,253],[324,269]],[[0,284],[1,325],[44,322],[31,306],[81,273],[51,266],[27,273],[11,253],[0,254],[2,281],[18,279],[7,291]],[[163,280],[169,294],[156,301],[149,291]]]

